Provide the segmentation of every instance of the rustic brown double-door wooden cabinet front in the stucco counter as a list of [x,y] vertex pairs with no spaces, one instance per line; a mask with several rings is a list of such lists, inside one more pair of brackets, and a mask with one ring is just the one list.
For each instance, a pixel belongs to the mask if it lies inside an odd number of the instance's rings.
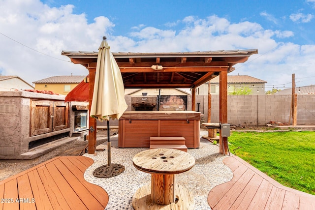
[[31,101],[30,136],[68,128],[68,102]]

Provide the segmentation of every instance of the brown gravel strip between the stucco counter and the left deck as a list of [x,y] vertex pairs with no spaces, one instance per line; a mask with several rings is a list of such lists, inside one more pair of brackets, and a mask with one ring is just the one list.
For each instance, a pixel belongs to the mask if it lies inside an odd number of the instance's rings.
[[[111,135],[117,134],[117,129],[110,130]],[[107,141],[107,130],[97,131],[96,144],[100,145]],[[50,160],[57,156],[76,156],[87,146],[88,141],[75,140],[71,144],[63,145],[62,147],[41,155],[32,160],[0,160],[0,180],[5,180],[13,175],[25,171],[42,162]]]

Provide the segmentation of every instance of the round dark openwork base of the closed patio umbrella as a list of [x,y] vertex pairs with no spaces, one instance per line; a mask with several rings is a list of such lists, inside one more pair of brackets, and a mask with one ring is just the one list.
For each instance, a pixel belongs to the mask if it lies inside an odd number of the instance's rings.
[[103,165],[96,168],[93,172],[93,176],[97,178],[111,178],[120,175],[125,171],[125,166],[117,163],[113,163],[110,166]]

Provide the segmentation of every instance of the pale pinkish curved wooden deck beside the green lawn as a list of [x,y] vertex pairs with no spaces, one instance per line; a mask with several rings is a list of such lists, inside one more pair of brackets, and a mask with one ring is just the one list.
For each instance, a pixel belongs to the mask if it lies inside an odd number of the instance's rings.
[[213,210],[315,210],[315,196],[271,179],[237,156],[223,160],[233,179],[208,195]]

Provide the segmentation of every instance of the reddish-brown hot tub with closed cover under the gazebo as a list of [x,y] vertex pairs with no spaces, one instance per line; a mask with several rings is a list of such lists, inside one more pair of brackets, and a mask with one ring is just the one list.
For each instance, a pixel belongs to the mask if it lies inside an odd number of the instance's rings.
[[151,136],[183,136],[187,148],[200,146],[200,112],[127,111],[119,119],[120,148],[149,148]]

